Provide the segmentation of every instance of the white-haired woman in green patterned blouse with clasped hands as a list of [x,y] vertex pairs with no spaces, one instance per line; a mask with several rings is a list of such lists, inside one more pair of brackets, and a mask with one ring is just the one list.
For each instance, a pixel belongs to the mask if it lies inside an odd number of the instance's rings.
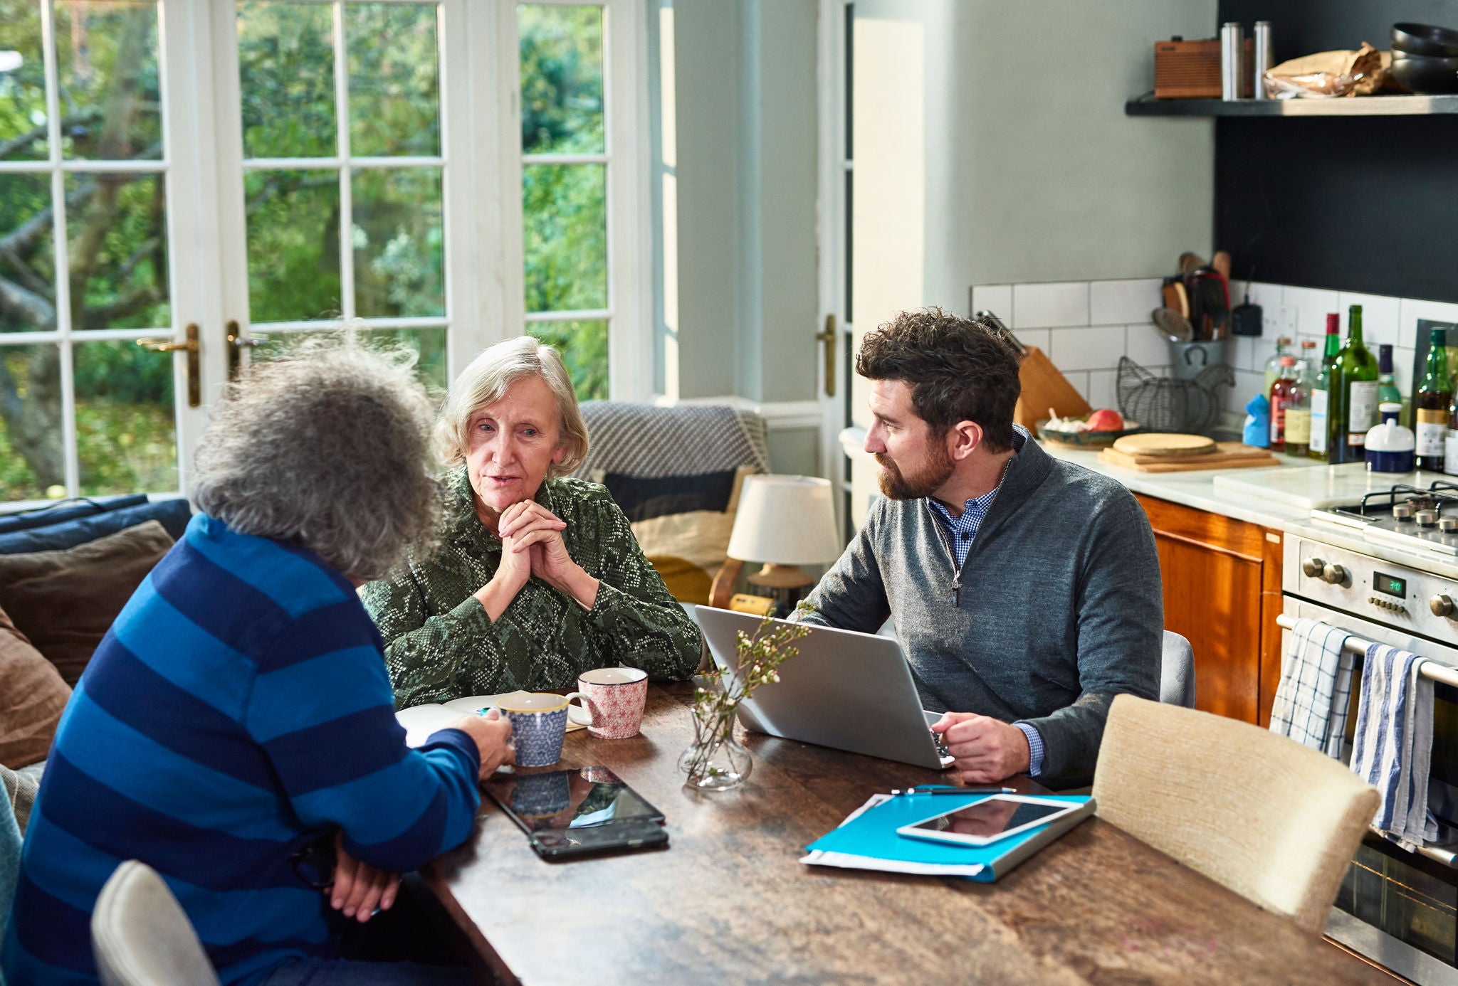
[[608,491],[567,476],[588,428],[554,348],[523,335],[481,352],[436,433],[453,466],[440,545],[362,593],[398,708],[569,689],[614,664],[656,680],[694,673],[698,626]]

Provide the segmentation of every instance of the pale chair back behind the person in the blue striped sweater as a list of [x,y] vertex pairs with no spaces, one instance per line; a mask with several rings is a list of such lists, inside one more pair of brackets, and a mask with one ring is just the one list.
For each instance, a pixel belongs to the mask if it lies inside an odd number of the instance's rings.
[[137,859],[117,867],[96,897],[92,954],[104,986],[217,986],[178,899]]

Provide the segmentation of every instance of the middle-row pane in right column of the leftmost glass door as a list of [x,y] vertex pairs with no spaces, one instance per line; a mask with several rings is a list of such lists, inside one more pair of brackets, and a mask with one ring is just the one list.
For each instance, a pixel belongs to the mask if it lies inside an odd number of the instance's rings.
[[73,329],[172,325],[162,175],[66,176]]

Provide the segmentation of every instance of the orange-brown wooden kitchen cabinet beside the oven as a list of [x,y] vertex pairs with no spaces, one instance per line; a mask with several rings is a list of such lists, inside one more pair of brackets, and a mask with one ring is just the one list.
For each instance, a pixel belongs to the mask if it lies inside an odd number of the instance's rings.
[[1194,648],[1196,708],[1267,725],[1280,682],[1282,532],[1136,497],[1159,548],[1165,629]]

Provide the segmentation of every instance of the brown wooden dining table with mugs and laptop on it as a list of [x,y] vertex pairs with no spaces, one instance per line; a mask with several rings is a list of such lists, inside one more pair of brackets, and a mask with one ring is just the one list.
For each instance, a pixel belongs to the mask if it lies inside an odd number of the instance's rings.
[[665,813],[669,848],[545,862],[483,797],[471,839],[426,869],[486,982],[1394,982],[1098,817],[990,884],[805,865],[872,794],[948,775],[748,734],[749,779],[691,791],[690,699],[650,686],[637,737],[569,734],[558,765],[611,768]]

